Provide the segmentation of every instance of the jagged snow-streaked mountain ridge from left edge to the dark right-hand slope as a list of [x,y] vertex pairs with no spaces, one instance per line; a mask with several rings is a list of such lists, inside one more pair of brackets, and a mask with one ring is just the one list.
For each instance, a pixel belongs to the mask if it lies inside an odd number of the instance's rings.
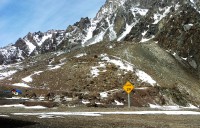
[[0,64],[8,63],[7,59],[10,56],[15,56],[16,59],[9,58],[12,60],[9,62],[15,62],[57,49],[71,51],[103,40],[123,40],[138,19],[148,11],[144,8],[130,6],[127,2],[129,1],[107,0],[96,17],[93,19],[81,18],[79,22],[70,25],[65,31],[50,30],[44,33],[40,31],[28,33],[25,37],[18,39],[12,47],[3,48],[12,48],[15,49],[15,52],[9,52],[9,50],[0,52],[0,55],[3,56]]

